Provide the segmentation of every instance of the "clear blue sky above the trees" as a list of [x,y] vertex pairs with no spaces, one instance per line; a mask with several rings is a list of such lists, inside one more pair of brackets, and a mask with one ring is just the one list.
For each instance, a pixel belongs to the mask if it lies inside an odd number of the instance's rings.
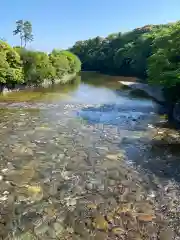
[[16,20],[33,25],[33,49],[67,48],[77,40],[180,20],[180,0],[4,0],[0,37],[12,45]]

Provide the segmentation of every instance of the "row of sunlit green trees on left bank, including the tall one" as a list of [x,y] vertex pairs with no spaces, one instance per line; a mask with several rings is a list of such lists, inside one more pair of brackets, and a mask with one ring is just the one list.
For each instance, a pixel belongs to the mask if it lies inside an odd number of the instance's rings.
[[29,21],[16,22],[14,35],[19,35],[20,46],[11,47],[0,40],[0,85],[38,85],[44,80],[52,83],[67,74],[80,71],[79,58],[69,51],[54,49],[50,54],[26,49],[33,41],[32,24]]

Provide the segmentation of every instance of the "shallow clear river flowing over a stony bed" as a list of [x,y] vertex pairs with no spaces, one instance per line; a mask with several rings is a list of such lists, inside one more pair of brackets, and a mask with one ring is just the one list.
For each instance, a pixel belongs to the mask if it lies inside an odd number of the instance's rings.
[[0,97],[0,239],[180,239],[179,133],[120,80]]

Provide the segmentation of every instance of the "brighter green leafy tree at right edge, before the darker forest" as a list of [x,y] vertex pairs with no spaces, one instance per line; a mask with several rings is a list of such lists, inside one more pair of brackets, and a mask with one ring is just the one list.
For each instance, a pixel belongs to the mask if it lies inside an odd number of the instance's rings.
[[149,82],[168,88],[180,84],[180,22],[169,24],[150,37],[153,54],[148,60]]

